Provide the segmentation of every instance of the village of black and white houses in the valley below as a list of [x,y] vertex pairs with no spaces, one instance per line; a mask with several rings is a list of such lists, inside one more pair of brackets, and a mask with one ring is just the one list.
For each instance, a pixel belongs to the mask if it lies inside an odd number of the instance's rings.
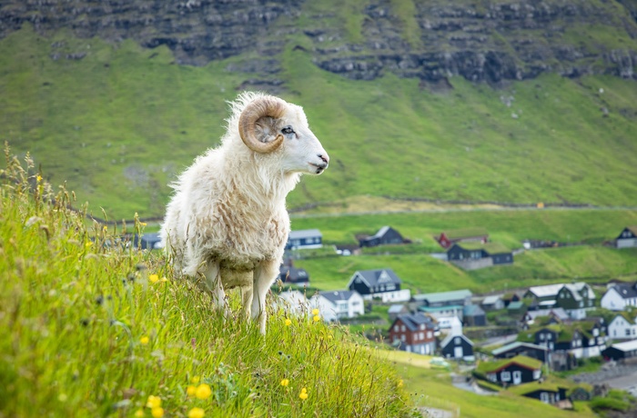
[[[435,239],[441,252],[430,255],[465,270],[514,263],[516,252],[491,243],[482,228],[445,231]],[[637,226],[626,226],[609,243],[618,251],[637,247]],[[383,226],[377,234],[360,238],[359,248],[335,251],[356,256],[360,248],[402,244],[409,240]],[[318,229],[293,231],[288,238],[290,254],[322,245]],[[557,245],[524,242],[521,251]],[[290,257],[272,288],[280,306],[297,314],[319,309],[323,321],[342,324],[373,320],[378,315],[369,312],[383,306],[386,326],[368,334],[369,339],[395,350],[433,356],[432,364],[450,370],[455,367],[461,372],[453,373],[454,382],[475,393],[506,390],[572,409],[575,401],[606,396],[614,387],[608,376],[628,375],[624,381],[629,384],[620,386],[637,394],[637,283],[612,280],[490,294],[473,294],[469,289],[412,294],[388,266],[353,271],[340,290],[308,289],[313,289],[310,273],[295,267]]]

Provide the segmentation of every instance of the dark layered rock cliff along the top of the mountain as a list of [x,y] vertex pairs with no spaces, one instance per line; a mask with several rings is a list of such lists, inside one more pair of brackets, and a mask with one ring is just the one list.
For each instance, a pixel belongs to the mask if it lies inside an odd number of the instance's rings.
[[30,22],[44,34],[66,27],[79,37],[167,45],[185,65],[237,56],[227,69],[266,85],[280,83],[278,55],[299,39],[316,65],[352,79],[386,72],[431,83],[460,75],[497,84],[542,72],[637,77],[632,0],[354,3],[344,11],[303,0],[11,0],[0,8],[0,35]]

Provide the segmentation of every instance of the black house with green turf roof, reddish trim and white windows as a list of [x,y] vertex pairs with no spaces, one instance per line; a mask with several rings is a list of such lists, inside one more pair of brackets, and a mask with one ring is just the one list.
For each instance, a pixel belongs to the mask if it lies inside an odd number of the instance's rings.
[[489,382],[509,386],[539,381],[541,366],[539,360],[516,355],[496,362],[482,362],[476,367],[476,373]]

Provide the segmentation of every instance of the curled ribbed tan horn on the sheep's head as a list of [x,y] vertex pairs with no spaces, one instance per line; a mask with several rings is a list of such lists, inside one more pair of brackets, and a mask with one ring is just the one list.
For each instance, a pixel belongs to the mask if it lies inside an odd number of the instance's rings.
[[255,135],[255,125],[259,118],[264,116],[278,119],[285,111],[286,103],[273,96],[259,97],[241,112],[238,128],[241,140],[252,151],[260,154],[271,153],[283,144],[283,135],[278,134],[274,141],[262,143]]

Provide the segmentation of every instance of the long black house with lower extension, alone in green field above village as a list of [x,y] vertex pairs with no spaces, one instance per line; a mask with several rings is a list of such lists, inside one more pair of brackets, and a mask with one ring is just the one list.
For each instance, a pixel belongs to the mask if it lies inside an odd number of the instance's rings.
[[447,260],[465,270],[476,270],[497,264],[512,264],[513,253],[502,244],[451,244]]

